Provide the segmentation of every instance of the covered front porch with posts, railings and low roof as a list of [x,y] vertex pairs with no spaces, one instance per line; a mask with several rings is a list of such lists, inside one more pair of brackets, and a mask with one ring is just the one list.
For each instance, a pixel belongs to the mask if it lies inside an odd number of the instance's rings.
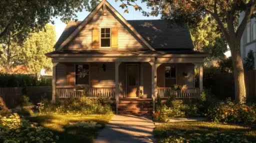
[[[157,95],[160,98],[199,96],[203,89],[205,54],[195,51],[186,54],[150,52],[52,54],[52,100],[55,100],[55,95],[60,98],[82,95],[112,97],[117,109],[120,98],[152,99],[154,106]],[[194,86],[195,66],[199,68],[199,88]],[[81,73],[78,73],[78,68],[81,68]],[[186,85],[186,88],[173,90],[176,84]]]

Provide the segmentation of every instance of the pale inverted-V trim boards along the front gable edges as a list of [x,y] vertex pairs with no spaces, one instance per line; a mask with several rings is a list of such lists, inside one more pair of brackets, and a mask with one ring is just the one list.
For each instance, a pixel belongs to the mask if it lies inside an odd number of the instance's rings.
[[76,27],[76,29],[60,44],[56,51],[61,50],[65,45],[67,45],[78,32],[92,19],[92,17],[98,12],[101,6],[107,6],[150,50],[155,51],[155,49],[122,17],[122,15],[114,9],[106,0],[102,0],[89,15]]

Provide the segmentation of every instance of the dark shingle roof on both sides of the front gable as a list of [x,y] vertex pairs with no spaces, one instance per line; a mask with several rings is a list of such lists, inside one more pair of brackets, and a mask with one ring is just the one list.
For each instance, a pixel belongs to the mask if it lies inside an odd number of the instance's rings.
[[[135,30],[156,50],[193,49],[187,25],[169,25],[167,20],[127,20]],[[54,48],[57,48],[81,23],[68,22]]]

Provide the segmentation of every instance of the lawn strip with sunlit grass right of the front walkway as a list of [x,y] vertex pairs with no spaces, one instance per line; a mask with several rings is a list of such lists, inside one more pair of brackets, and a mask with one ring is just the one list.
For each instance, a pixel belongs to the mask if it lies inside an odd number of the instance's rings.
[[[197,135],[194,135],[197,134]],[[224,136],[221,134],[225,134]],[[224,137],[247,139],[252,143],[256,143],[256,127],[241,126],[230,124],[218,124],[211,122],[174,122],[159,125],[154,129],[154,136],[159,143],[169,138],[184,138],[190,140],[193,136],[205,139],[208,135],[214,135],[212,140],[222,141]],[[215,142],[214,142],[215,143]],[[229,142],[228,142],[229,143]]]

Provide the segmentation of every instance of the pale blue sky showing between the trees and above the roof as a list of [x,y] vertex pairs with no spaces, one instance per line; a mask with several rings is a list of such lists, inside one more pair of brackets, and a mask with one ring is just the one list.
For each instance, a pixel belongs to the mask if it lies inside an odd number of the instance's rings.
[[[130,7],[129,8],[129,13],[124,13],[124,9],[122,9],[121,7],[119,7],[119,5],[121,4],[120,1],[115,2],[115,0],[107,0],[126,20],[140,20],[140,19],[160,19],[160,16],[143,16],[142,13],[140,11],[135,11],[134,8]],[[139,6],[141,6],[141,8],[145,11],[147,10],[146,7],[146,3],[141,3],[140,0],[137,1],[137,4]],[[77,12],[77,19],[79,21],[83,20],[87,15],[89,14],[88,11],[83,10],[82,12]],[[56,40],[59,38],[59,36],[61,35],[61,33],[63,32],[66,24],[63,23],[60,18],[56,18],[54,19],[54,26],[55,26],[55,30],[56,30]],[[225,55],[227,57],[230,56],[230,51],[227,51],[225,53]]]

